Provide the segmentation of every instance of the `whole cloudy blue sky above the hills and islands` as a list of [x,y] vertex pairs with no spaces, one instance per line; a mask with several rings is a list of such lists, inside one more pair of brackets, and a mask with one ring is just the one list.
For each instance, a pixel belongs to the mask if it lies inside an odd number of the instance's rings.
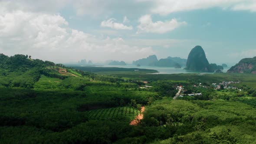
[[0,53],[57,63],[256,56],[256,0],[0,0]]

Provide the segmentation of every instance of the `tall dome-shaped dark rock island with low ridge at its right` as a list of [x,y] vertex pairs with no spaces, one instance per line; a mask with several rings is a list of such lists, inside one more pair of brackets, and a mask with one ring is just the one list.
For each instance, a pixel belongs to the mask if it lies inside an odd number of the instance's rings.
[[209,64],[205,52],[201,46],[195,46],[189,53],[186,68],[190,71],[215,72],[223,70],[223,66],[215,63]]

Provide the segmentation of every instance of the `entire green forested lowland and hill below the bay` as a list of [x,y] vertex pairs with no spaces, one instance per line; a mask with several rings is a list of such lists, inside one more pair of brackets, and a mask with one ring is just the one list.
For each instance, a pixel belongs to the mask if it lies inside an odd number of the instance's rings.
[[256,143],[256,75],[135,70],[0,54],[0,144]]

